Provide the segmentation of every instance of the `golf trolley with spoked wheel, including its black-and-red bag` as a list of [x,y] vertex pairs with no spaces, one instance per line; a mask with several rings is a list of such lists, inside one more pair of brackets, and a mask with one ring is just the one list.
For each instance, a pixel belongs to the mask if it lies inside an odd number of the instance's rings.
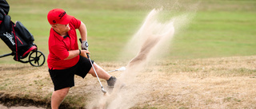
[[[12,53],[0,55],[14,56],[14,60],[22,63],[30,63],[32,66],[39,67],[45,63],[45,55],[38,51],[37,45],[34,44],[33,35],[26,29],[20,21],[15,23],[7,15],[10,6],[6,0],[0,0],[0,37],[2,41],[11,49]],[[28,60],[22,59],[28,57]]]

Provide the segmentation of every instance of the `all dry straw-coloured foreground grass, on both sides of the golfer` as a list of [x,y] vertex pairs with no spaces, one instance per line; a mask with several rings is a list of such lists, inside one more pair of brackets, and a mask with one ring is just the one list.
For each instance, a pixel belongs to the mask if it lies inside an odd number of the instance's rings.
[[[117,62],[98,64],[106,71],[126,65]],[[132,108],[256,108],[255,66],[256,56],[159,60],[147,64],[136,76],[136,84],[127,86],[127,90],[138,90],[134,97],[138,102]],[[32,99],[49,107],[53,84],[46,66],[1,64],[0,71],[2,101],[6,98]],[[111,74],[120,76],[120,72]],[[106,81],[102,80],[102,84],[106,86]],[[62,105],[86,107],[102,95],[97,79],[92,76],[86,76],[84,80],[76,76],[75,85]]]

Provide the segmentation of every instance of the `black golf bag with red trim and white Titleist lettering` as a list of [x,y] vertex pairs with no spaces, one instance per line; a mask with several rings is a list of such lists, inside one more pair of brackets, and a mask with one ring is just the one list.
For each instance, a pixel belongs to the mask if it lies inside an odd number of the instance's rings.
[[5,15],[0,25],[0,37],[6,45],[16,53],[14,60],[25,58],[30,51],[37,49],[34,45],[33,35],[20,21],[10,21],[10,16]]

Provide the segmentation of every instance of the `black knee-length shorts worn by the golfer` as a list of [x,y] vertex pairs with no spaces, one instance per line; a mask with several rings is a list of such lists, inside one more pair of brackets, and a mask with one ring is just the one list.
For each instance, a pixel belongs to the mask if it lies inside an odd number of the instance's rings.
[[[92,60],[94,63],[94,60]],[[78,63],[71,68],[62,70],[51,70],[50,78],[54,83],[54,91],[62,88],[71,88],[74,86],[74,75],[86,77],[87,73],[90,71],[91,64],[90,60],[86,57],[80,56]]]

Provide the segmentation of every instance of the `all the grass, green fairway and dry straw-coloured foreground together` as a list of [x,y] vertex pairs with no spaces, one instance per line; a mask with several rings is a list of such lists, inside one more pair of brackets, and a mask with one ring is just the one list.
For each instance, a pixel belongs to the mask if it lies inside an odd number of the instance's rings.
[[[100,61],[98,64],[106,71],[126,65],[116,57],[153,8],[162,6],[166,9],[162,19],[193,14],[188,18],[190,23],[175,33],[170,50],[166,50],[165,60],[147,67],[137,77],[139,84],[136,87],[148,88],[145,86],[148,85],[151,88],[141,93],[141,98],[134,98],[140,102],[133,108],[256,107],[253,90],[256,76],[256,2],[253,0],[207,0],[199,3],[191,0],[8,2],[12,21],[21,21],[30,30],[38,50],[46,57],[50,30],[46,20],[48,11],[62,8],[67,14],[82,20],[88,29],[91,57]],[[0,54],[10,53],[3,42],[0,48]],[[33,68],[12,58],[0,59],[0,96],[32,99],[49,107],[53,85],[46,64],[42,68]],[[119,76],[118,73],[113,75]],[[146,81],[145,75],[154,77]],[[99,92],[95,88],[97,85],[90,76],[85,80],[76,77],[76,87],[70,90],[62,106],[88,106]]]

